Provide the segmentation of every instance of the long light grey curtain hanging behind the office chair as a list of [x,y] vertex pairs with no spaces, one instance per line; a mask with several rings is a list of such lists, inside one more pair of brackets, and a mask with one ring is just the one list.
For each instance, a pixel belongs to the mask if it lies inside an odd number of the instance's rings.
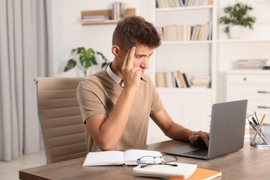
[[33,79],[53,73],[51,0],[0,0],[0,160],[42,148]]

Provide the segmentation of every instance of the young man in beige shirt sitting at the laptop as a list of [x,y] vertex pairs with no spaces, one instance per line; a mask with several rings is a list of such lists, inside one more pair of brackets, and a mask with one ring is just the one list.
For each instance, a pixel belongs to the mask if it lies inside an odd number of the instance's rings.
[[180,141],[208,145],[209,134],[193,132],[170,118],[144,74],[161,38],[143,17],[119,21],[112,39],[114,61],[106,70],[80,81],[77,90],[89,152],[124,150],[146,144],[148,120]]

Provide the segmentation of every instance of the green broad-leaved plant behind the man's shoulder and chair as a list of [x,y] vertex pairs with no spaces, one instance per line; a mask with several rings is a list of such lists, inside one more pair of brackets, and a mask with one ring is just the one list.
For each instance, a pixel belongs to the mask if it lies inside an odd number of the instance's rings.
[[[105,68],[109,61],[107,58],[100,52],[93,51],[93,48],[84,48],[78,47],[74,48],[71,51],[71,59],[67,62],[64,67],[64,72],[73,69],[75,66],[79,66],[79,68],[83,71],[84,76],[87,76],[87,69],[91,66],[98,65],[97,57],[100,56],[102,58],[102,69]],[[79,63],[78,63],[79,62]]]

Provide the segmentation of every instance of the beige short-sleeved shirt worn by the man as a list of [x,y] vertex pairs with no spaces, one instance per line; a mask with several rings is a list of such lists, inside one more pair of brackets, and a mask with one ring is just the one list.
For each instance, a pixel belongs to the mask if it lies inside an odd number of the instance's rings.
[[[132,105],[127,126],[116,150],[125,150],[146,144],[148,121],[150,114],[156,114],[163,108],[159,94],[148,75],[143,75],[147,82],[141,82]],[[110,116],[123,87],[112,80],[106,70],[83,78],[78,84],[77,98],[80,104],[82,120],[96,114]],[[89,152],[100,151],[91,138],[88,130],[87,145]]]

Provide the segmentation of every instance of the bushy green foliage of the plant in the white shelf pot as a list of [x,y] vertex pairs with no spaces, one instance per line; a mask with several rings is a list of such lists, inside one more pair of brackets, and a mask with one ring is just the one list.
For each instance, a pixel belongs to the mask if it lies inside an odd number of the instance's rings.
[[248,12],[253,10],[253,7],[244,3],[235,3],[233,6],[226,6],[224,8],[225,15],[219,17],[219,23],[225,24],[225,33],[229,32],[229,25],[240,25],[253,29],[253,23],[255,23],[255,17],[248,15]]

